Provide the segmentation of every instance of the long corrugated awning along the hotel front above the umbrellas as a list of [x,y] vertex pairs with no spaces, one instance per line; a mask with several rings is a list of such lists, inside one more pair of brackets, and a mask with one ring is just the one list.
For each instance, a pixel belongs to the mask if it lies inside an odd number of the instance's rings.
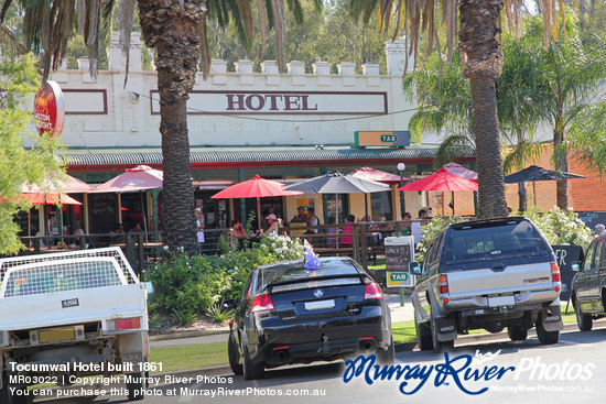
[[[431,164],[436,148],[351,149],[345,146],[191,148],[190,162],[196,168],[246,168],[260,166]],[[71,149],[59,155],[71,172],[126,170],[145,164],[162,168],[162,151],[156,149]],[[472,149],[459,162],[475,162]]]

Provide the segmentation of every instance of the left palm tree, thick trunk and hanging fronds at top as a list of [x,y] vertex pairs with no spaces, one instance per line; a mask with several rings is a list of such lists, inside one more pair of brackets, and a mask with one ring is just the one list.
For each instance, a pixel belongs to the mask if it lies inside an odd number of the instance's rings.
[[[102,33],[110,31],[117,1],[101,0],[19,0],[24,11],[25,46],[18,48],[44,51],[44,79],[51,69],[57,68],[65,55],[67,40],[72,35],[74,20],[84,34],[90,61],[90,74],[96,76],[101,53]],[[4,0],[0,9],[0,22],[13,0]],[[191,183],[190,140],[187,132],[186,102],[197,73],[198,53],[203,50],[203,62],[208,72],[209,57],[206,41],[206,11],[219,23],[235,21],[240,40],[252,35],[251,2],[247,0],[122,0],[120,2],[120,47],[127,55],[133,29],[136,4],[139,6],[139,21],[143,41],[155,50],[158,89],[160,92],[160,133],[164,166],[164,220],[162,230],[170,250],[185,249],[198,252],[193,215],[194,194]],[[257,0],[260,10],[267,10],[266,25],[275,26],[277,43],[283,47],[283,0],[271,0],[271,4]],[[286,0],[301,19],[300,0]],[[316,7],[321,0],[314,0]],[[268,17],[269,15],[269,17]],[[266,26],[266,29],[267,29]],[[0,37],[7,34],[3,26]],[[105,30],[101,30],[104,28]],[[4,47],[6,48],[6,47]],[[278,52],[281,72],[285,69],[283,51]]]

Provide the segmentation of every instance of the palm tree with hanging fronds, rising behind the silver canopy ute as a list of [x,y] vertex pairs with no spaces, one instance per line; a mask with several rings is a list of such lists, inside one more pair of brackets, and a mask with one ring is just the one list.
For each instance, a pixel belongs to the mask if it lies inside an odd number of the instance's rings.
[[[558,23],[555,1],[545,0],[545,35],[553,32],[552,24]],[[351,0],[351,13],[359,19],[379,10],[386,30],[392,14],[398,23],[394,37],[404,21],[404,34],[409,51],[416,56],[419,34],[428,32],[428,47],[433,51],[434,43],[441,52],[440,36],[436,30],[436,15],[441,14],[446,31],[447,62],[452,59],[457,31],[456,2],[452,0]],[[552,7],[553,6],[553,7]],[[458,1],[458,51],[463,57],[463,75],[469,80],[473,99],[473,132],[477,149],[478,165],[478,216],[481,218],[507,216],[502,160],[499,151],[499,121],[495,79],[502,70],[499,19],[504,10],[508,21],[519,22],[522,9],[520,0],[459,0]],[[563,12],[563,10],[561,10]]]

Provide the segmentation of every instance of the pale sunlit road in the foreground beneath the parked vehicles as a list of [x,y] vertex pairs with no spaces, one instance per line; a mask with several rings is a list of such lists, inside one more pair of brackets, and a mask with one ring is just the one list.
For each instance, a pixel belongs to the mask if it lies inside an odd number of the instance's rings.
[[[350,404],[410,400],[439,402],[444,398],[448,403],[483,404],[487,400],[490,404],[509,404],[513,400],[533,404],[564,401],[602,403],[606,393],[605,351],[606,329],[567,332],[561,336],[560,343],[547,347],[541,346],[535,337],[523,342],[457,346],[447,359],[446,354],[434,352],[400,352],[396,365],[408,368],[400,378],[394,374],[391,380],[372,380],[375,373],[369,372],[370,380],[366,381],[366,368],[356,372],[359,368],[347,367],[344,362],[286,367],[268,371],[268,378],[260,381],[248,382],[241,376],[226,374],[150,386],[142,403]],[[356,373],[359,376],[355,376]],[[347,383],[344,382],[344,374],[350,379]],[[400,389],[409,394],[400,392]],[[464,390],[477,394],[467,394]],[[115,395],[46,402],[127,401]]]

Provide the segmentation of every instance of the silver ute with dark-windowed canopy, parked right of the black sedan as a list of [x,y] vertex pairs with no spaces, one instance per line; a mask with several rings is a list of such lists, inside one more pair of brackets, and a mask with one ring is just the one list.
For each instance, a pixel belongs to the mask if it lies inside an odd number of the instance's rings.
[[421,350],[452,348],[470,329],[524,340],[537,327],[541,343],[555,343],[563,328],[560,269],[551,245],[527,218],[448,226],[430,244],[412,295]]

